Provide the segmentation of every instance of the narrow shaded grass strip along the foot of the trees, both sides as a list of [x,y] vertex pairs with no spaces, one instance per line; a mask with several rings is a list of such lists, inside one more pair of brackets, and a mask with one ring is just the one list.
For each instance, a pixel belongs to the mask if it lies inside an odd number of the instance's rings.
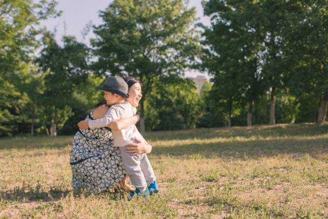
[[[145,138],[158,140],[211,139],[216,137],[279,137],[279,136],[318,136],[328,133],[328,125],[316,124],[278,124],[267,126],[232,127],[232,128],[199,128],[176,131],[147,132]],[[8,137],[0,140],[0,151],[4,149],[48,149],[64,148],[71,145],[73,135],[69,136],[31,136]]]

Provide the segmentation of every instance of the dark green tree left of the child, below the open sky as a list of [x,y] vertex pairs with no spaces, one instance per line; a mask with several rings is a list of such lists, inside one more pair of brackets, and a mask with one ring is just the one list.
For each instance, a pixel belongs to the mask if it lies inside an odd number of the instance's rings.
[[56,136],[57,129],[63,127],[72,114],[73,88],[87,78],[89,53],[86,45],[71,36],[63,37],[63,46],[58,45],[49,32],[43,37],[43,45],[36,59],[46,74],[43,103],[47,115],[43,121],[47,133]]

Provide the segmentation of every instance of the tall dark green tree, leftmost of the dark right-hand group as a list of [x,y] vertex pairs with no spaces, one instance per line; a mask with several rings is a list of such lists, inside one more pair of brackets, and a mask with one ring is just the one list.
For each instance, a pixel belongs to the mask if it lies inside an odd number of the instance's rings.
[[[227,124],[248,105],[248,125],[252,125],[253,106],[264,91],[258,51],[262,44],[251,21],[251,2],[204,1],[204,13],[211,16],[211,27],[205,27],[202,65],[212,74],[212,94],[218,109],[224,109]],[[253,7],[253,8],[252,8]],[[228,112],[228,113],[227,113]]]

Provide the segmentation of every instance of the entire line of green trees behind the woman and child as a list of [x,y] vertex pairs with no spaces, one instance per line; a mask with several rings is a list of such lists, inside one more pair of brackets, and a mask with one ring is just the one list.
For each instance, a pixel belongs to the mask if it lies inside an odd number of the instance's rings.
[[[100,11],[90,46],[39,22],[56,1],[0,5],[0,135],[72,134],[107,75],[143,82],[140,129],[317,122],[328,104],[326,1],[120,0]],[[188,69],[206,71],[201,93]]]

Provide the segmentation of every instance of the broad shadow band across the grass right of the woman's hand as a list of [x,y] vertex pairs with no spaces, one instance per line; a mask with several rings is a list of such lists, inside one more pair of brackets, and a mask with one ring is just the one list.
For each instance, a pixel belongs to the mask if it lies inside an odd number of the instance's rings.
[[261,157],[291,154],[295,157],[309,154],[317,157],[328,153],[328,138],[233,141],[219,143],[185,144],[176,146],[156,146],[153,155],[223,157],[233,159],[257,159]]

